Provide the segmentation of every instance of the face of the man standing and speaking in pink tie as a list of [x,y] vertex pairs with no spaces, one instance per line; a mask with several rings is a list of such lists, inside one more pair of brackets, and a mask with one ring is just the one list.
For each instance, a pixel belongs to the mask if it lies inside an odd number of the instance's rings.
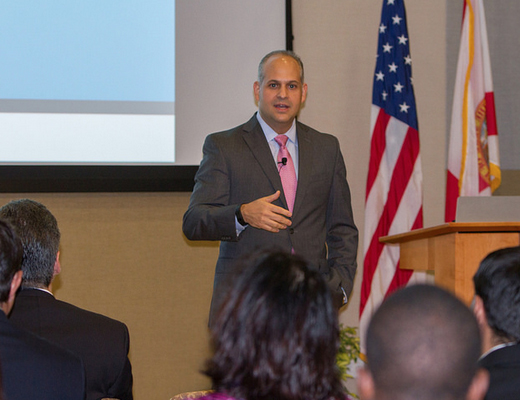
[[307,96],[298,62],[286,55],[275,55],[264,65],[263,82],[254,83],[255,99],[262,119],[276,133],[285,133]]

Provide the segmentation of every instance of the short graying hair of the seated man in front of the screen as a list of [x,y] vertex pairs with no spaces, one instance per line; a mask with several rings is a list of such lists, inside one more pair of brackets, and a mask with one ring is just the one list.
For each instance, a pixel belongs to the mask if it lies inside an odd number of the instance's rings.
[[1,207],[0,218],[14,226],[22,241],[23,285],[49,286],[60,247],[60,230],[54,215],[37,201],[20,199]]

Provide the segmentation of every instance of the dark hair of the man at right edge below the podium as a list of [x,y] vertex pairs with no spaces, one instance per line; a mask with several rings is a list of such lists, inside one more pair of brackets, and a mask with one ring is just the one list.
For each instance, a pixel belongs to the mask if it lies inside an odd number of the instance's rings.
[[473,276],[488,325],[504,341],[520,340],[520,246],[489,253]]

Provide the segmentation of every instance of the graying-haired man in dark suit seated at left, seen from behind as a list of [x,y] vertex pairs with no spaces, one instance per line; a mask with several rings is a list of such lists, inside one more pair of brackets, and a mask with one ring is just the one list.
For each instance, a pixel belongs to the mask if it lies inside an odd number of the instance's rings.
[[56,299],[52,280],[61,271],[60,231],[52,213],[30,199],[0,208],[24,248],[22,290],[10,322],[78,355],[85,366],[87,400],[132,400],[130,338],[125,324]]

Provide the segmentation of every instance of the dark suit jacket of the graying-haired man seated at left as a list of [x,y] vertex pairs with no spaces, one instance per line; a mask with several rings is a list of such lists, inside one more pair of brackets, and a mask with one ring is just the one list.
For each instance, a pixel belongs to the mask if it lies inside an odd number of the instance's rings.
[[86,371],[87,400],[132,399],[130,339],[125,324],[37,289],[22,290],[10,321],[78,355]]

